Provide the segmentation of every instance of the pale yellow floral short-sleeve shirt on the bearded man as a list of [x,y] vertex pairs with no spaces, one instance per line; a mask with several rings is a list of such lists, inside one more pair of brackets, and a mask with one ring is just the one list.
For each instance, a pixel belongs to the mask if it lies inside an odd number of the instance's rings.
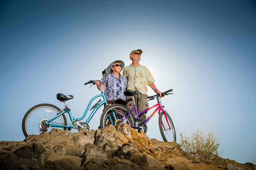
[[127,77],[127,89],[134,91],[136,88],[141,94],[145,95],[147,95],[145,87],[155,81],[148,68],[141,64],[137,67],[133,63],[130,66],[126,66],[122,75]]

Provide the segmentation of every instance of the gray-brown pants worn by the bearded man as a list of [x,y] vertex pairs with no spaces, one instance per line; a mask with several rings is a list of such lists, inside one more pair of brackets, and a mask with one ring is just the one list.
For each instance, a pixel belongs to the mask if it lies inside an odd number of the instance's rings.
[[[134,99],[135,99],[135,104],[137,106],[137,111],[139,113],[148,108],[147,95],[141,94],[136,88],[134,91],[138,92],[138,95],[134,95]],[[127,102],[126,104],[127,108],[130,108],[130,103],[132,103],[132,106],[133,106],[134,103],[132,101],[132,96],[126,96],[126,102]],[[147,112],[144,112],[143,114],[139,115],[140,116],[139,118],[142,122],[146,120],[146,113]],[[132,114],[136,119],[137,118],[136,112],[134,111]]]

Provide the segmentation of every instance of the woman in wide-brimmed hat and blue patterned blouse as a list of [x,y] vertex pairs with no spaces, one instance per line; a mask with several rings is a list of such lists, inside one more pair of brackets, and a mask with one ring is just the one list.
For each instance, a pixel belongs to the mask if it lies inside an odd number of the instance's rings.
[[[101,81],[97,80],[95,82],[99,90],[105,88],[105,96],[109,104],[113,104],[113,103],[123,104],[123,105],[126,104],[124,91],[126,90],[126,86],[127,86],[127,78],[120,74],[123,68],[124,68],[123,61],[121,60],[114,61],[105,70],[106,73],[110,73],[110,74],[107,74],[105,76],[104,84],[103,84],[103,78],[101,79]],[[103,85],[100,87],[101,84]]]

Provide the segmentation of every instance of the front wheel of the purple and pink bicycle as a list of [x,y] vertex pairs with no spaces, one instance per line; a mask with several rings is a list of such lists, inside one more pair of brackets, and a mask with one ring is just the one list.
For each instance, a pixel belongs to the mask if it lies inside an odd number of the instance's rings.
[[166,117],[162,111],[158,117],[158,123],[162,138],[165,142],[176,142],[176,132],[173,121],[167,112]]

